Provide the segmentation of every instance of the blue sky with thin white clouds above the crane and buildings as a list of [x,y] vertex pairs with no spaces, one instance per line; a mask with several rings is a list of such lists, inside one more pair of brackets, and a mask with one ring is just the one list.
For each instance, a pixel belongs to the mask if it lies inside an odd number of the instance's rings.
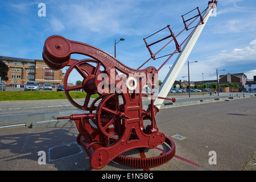
[[[46,5],[46,16],[38,16],[39,3]],[[178,34],[184,28],[181,15],[197,6],[203,11],[208,0],[1,1],[0,55],[42,59],[44,42],[51,35],[91,44],[114,55],[114,40],[124,38],[117,44],[117,59],[138,68],[150,57],[143,38],[167,24]],[[256,76],[256,1],[219,0],[216,13],[188,57],[198,61],[189,65],[191,80],[202,80],[202,73],[204,80],[216,79],[216,69],[226,70],[219,75],[243,72],[252,79]],[[178,42],[183,42],[183,36]],[[172,47],[167,50],[173,51]],[[160,80],[174,61],[175,56],[160,70]],[[162,62],[151,60],[145,67],[158,68]],[[176,80],[187,75],[186,62]],[[76,76],[70,79],[73,83],[80,80]]]

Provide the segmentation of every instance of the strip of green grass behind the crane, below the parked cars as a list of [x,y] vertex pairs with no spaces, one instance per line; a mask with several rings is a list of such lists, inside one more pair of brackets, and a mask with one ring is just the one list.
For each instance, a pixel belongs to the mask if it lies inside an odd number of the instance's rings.
[[[73,99],[85,98],[86,92],[69,92]],[[92,95],[93,98],[98,94]],[[0,92],[0,101],[22,101],[22,100],[54,100],[67,99],[64,92],[56,91],[3,91]]]

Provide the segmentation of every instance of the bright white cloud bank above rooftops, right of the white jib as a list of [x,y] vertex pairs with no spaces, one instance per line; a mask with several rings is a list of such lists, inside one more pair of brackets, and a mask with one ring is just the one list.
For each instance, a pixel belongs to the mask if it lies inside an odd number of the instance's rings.
[[[256,76],[256,39],[252,40],[247,46],[243,48],[233,48],[231,51],[221,51],[214,56],[205,57],[199,60],[199,63],[189,64],[189,75],[192,81],[202,80],[202,73],[204,73],[205,80],[216,79],[216,69],[224,73],[245,73],[247,78],[252,79]],[[166,71],[167,73],[167,71]],[[182,78],[188,75],[187,64],[181,69],[177,80],[186,80]],[[161,75],[162,76],[162,75]]]

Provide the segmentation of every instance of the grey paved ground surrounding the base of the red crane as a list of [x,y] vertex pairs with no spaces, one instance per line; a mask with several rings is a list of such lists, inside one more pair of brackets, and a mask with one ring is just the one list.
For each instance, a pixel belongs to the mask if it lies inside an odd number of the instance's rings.
[[[156,114],[159,130],[175,142],[176,155],[167,164],[150,170],[255,170],[256,98],[254,96],[250,94],[240,98],[219,96],[219,100],[214,97],[212,98],[214,103],[206,105],[202,104],[209,102],[201,102],[201,100],[209,100],[208,96],[192,96],[189,99],[185,96],[175,97],[176,103],[181,103],[183,100],[198,103],[187,107],[166,105]],[[37,107],[36,102],[38,101],[20,103],[23,107],[28,107],[25,110],[30,108],[32,111]],[[1,102],[1,114],[7,111],[8,105],[2,104],[3,102]],[[15,103],[9,104],[13,113],[20,110]],[[59,112],[59,115],[70,115],[80,111],[69,105],[69,102],[64,100],[47,101],[45,105],[40,105],[39,109]],[[47,125],[39,127],[39,123],[46,122]],[[84,149],[76,143],[78,132],[73,122],[57,123],[53,119],[34,123],[35,127],[32,129],[6,127],[0,130],[0,170],[92,170]],[[175,138],[175,135],[185,139],[180,140]],[[39,151],[46,152],[45,165],[40,165],[38,162]],[[216,165],[208,162],[210,151],[217,152]],[[136,151],[133,152],[136,155]],[[160,151],[156,150],[156,152]],[[147,153],[147,155],[155,154],[155,151],[150,150]],[[134,168],[111,162],[102,170],[119,171],[134,170]]]

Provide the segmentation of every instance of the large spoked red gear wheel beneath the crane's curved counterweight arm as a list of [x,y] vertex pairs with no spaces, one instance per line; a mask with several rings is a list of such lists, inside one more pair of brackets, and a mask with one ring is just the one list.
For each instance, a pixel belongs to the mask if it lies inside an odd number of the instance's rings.
[[98,73],[100,73],[101,72],[100,68],[104,68],[104,67],[101,65],[100,61],[97,61],[94,59],[79,60],[73,63],[71,67],[69,67],[64,77],[64,89],[65,89],[65,95],[72,105],[74,105],[75,107],[81,110],[89,110],[88,104],[90,101],[90,97],[92,96],[92,94],[96,94],[97,92],[86,92],[85,101],[82,105],[77,103],[75,100],[73,100],[69,92],[78,90],[78,89],[84,89],[84,85],[80,84],[75,86],[68,86],[68,80],[69,80],[68,77],[71,74],[71,72],[73,70],[76,70],[84,79],[82,81],[82,83],[84,83],[90,75],[96,76]]

